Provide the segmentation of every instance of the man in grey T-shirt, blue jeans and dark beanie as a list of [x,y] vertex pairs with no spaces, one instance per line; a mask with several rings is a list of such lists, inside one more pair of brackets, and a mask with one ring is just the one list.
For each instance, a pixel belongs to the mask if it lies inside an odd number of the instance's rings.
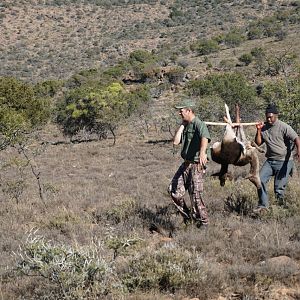
[[267,147],[264,165],[260,170],[262,188],[258,190],[259,202],[254,212],[267,209],[269,197],[267,182],[274,176],[274,192],[278,204],[284,204],[284,193],[288,177],[294,166],[292,150],[297,147],[296,158],[300,160],[300,138],[288,124],[278,119],[278,110],[274,104],[266,108],[266,122],[256,125],[255,142],[258,146],[265,143]]

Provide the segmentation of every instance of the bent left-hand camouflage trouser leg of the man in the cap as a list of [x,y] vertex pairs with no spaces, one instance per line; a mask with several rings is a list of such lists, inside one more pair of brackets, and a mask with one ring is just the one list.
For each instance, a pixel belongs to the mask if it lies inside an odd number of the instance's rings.
[[184,201],[186,183],[188,178],[187,171],[187,167],[182,164],[175,173],[168,188],[168,192],[172,197],[173,203],[184,218],[190,218],[189,209]]

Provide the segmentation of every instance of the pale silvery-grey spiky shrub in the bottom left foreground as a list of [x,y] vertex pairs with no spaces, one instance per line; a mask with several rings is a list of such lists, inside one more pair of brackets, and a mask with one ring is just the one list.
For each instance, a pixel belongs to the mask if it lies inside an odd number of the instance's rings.
[[113,289],[116,280],[114,267],[102,258],[100,248],[96,244],[85,248],[55,244],[31,232],[16,254],[17,273],[51,283],[49,299],[100,297]]

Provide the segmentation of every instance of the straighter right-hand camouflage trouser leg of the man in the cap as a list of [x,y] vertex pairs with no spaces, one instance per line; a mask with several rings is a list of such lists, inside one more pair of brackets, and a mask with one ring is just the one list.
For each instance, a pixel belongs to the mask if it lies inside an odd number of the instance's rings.
[[201,224],[208,224],[208,214],[205,203],[203,201],[203,183],[204,173],[198,170],[198,165],[191,165],[189,195],[193,206],[193,216],[199,220]]

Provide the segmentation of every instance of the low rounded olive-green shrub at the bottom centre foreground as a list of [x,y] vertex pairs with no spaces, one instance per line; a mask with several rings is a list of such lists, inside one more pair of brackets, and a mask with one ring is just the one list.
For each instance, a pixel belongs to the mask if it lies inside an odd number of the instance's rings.
[[[190,297],[201,295],[201,299],[209,299],[224,284],[220,272],[209,266],[200,253],[171,246],[133,257],[126,272],[121,274],[121,280],[131,293],[184,291]],[[207,294],[206,287],[212,280],[214,288]]]

